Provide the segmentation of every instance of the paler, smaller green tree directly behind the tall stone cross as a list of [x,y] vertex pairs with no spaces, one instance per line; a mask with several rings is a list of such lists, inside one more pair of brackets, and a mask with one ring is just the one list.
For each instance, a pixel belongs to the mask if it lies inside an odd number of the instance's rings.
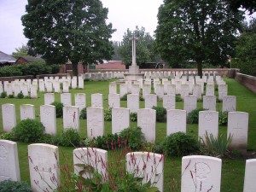
[[[130,29],[127,29],[123,36],[121,46],[118,48],[118,54],[122,58],[125,65],[131,64],[131,36],[132,33]],[[155,53],[154,44],[155,40],[150,36],[148,32],[145,32],[145,28],[139,28],[136,26],[134,31],[135,36],[138,38],[136,43],[136,55],[137,55],[137,65],[140,66],[145,62],[155,62],[160,60],[160,57]]]

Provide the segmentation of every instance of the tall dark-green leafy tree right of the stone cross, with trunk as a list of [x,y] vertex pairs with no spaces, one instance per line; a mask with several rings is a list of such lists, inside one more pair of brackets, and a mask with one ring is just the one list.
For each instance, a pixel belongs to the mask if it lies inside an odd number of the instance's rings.
[[164,0],[158,13],[157,49],[172,67],[194,60],[220,65],[234,55],[237,29],[243,12],[232,12],[221,0]]

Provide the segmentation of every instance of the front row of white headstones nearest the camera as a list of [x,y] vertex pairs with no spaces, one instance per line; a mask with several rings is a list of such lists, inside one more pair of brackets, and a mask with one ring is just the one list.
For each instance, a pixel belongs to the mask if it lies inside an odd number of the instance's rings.
[[[59,150],[49,144],[34,143],[28,145],[28,161],[32,191],[54,191],[61,185]],[[126,154],[126,171],[143,177],[143,183],[154,183],[161,192],[164,190],[164,163],[162,154],[150,152],[130,152]],[[100,148],[76,148],[73,150],[74,172],[79,174],[83,167],[92,166],[102,175],[102,182],[108,180],[108,151]],[[181,191],[215,191],[220,192],[222,160],[204,156],[191,155],[182,159]],[[17,143],[0,140],[0,181],[20,181],[20,166]],[[247,160],[243,192],[256,189],[256,160]],[[83,177],[90,178],[90,172]],[[165,174],[168,174],[166,172]],[[64,183],[62,183],[64,184]]]

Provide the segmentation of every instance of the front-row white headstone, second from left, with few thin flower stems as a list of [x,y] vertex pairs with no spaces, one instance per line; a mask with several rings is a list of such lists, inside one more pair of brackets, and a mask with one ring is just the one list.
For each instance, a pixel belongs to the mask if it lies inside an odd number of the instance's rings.
[[58,147],[36,143],[27,148],[32,191],[54,191],[60,184]]

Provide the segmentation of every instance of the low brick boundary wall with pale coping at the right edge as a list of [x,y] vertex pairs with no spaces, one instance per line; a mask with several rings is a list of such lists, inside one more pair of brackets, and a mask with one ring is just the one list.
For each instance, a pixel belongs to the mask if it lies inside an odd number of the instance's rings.
[[254,93],[256,93],[256,77],[247,74],[236,73],[235,79],[237,82],[243,84],[249,90],[252,90]]

